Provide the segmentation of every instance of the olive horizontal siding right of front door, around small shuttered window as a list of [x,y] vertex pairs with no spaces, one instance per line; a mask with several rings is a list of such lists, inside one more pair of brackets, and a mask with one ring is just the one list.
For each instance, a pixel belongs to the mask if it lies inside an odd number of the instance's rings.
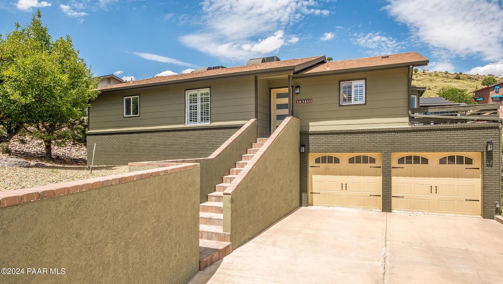
[[[365,104],[340,105],[340,81],[365,79]],[[294,116],[301,130],[336,130],[408,125],[408,68],[294,79]],[[299,99],[312,103],[296,104]]]

